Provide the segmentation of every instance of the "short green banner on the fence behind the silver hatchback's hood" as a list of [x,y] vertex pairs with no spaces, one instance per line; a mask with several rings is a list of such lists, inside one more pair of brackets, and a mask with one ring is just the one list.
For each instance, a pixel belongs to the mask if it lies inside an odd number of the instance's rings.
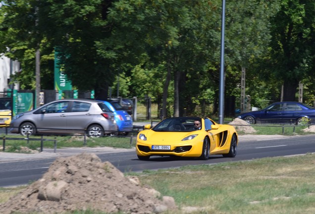
[[17,93],[17,90],[13,90],[13,116],[33,110],[33,101],[33,93]]

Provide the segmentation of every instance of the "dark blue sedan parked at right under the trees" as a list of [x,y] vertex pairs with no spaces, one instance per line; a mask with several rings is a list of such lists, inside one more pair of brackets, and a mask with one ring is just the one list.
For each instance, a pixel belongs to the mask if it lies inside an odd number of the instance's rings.
[[299,102],[278,102],[262,110],[242,113],[238,118],[249,124],[257,122],[308,124],[315,121],[315,107]]

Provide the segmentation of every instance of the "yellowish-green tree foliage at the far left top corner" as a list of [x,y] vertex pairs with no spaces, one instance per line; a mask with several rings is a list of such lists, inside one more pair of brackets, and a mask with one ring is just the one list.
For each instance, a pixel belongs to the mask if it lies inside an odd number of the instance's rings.
[[[40,33],[45,26],[36,0],[2,0],[0,8],[0,52],[21,63],[11,79],[21,89],[35,89],[35,51],[41,49],[42,85],[53,88],[53,56],[50,42]],[[38,47],[40,46],[40,47]]]

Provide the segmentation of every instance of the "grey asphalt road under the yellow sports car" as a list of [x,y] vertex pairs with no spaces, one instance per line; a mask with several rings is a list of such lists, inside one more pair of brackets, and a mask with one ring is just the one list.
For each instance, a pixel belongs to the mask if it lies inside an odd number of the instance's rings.
[[[315,135],[280,137],[264,140],[263,136],[246,141],[240,140],[235,158],[223,158],[221,155],[210,156],[209,160],[188,158],[151,157],[138,160],[134,150],[96,152],[102,161],[110,161],[122,172],[157,170],[184,165],[214,164],[225,161],[252,160],[265,157],[300,155],[315,152]],[[46,153],[48,154],[48,153]],[[27,184],[42,177],[55,157],[26,159],[0,162],[0,186]]]

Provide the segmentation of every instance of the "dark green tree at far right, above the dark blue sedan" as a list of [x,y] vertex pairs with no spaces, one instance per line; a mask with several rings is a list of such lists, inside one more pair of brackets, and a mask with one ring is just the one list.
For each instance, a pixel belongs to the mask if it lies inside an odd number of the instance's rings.
[[281,0],[272,19],[270,75],[284,86],[283,101],[296,101],[299,82],[314,78],[315,1]]

